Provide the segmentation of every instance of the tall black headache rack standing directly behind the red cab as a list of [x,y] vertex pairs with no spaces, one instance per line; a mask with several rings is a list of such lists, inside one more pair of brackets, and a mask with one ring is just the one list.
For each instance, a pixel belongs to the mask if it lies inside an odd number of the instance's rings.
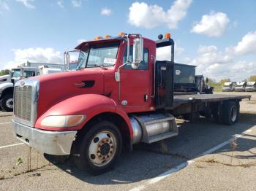
[[173,67],[174,67],[174,41],[173,39],[160,39],[156,47],[171,46],[170,61],[156,61],[155,90],[157,109],[171,109],[173,106]]

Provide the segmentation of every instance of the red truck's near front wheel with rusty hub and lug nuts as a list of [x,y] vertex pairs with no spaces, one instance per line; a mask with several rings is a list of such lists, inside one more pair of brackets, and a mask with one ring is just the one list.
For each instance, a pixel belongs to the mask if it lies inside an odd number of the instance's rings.
[[121,133],[112,122],[92,125],[83,137],[75,142],[73,159],[78,168],[97,175],[110,170],[121,154]]

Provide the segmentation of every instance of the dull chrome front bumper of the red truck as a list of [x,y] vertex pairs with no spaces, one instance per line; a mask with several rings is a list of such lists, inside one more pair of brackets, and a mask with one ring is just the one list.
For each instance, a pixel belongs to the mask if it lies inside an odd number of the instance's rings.
[[15,136],[40,152],[50,155],[69,155],[77,130],[50,131],[31,128],[12,120]]

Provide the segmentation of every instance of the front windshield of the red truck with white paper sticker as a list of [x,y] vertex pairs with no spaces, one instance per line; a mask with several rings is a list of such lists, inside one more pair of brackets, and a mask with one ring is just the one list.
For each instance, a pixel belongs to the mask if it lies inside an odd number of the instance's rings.
[[97,66],[114,66],[119,42],[92,44],[88,50],[81,51],[78,58],[78,69]]

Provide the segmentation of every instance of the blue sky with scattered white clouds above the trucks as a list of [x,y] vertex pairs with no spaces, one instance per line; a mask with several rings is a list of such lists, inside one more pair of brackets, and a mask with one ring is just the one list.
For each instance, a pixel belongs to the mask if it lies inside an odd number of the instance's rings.
[[[0,0],[0,69],[63,63],[63,52],[95,36],[170,32],[175,61],[197,74],[241,81],[256,75],[255,0]],[[159,58],[170,58],[168,47]]]

